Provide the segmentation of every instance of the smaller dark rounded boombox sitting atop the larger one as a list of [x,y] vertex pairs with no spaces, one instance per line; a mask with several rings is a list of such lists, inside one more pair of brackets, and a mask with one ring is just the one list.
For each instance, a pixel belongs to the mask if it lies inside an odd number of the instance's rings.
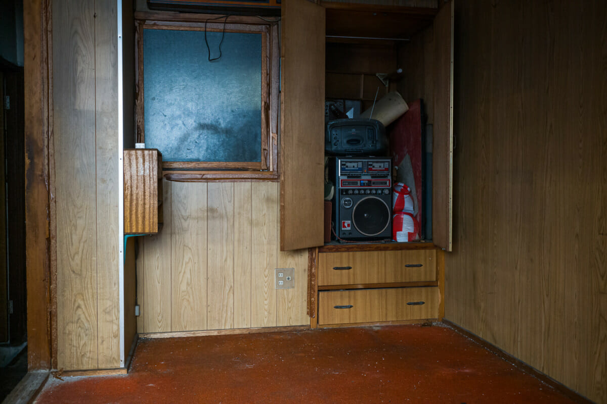
[[328,122],[325,153],[331,156],[381,156],[388,148],[384,125],[376,119],[337,119]]

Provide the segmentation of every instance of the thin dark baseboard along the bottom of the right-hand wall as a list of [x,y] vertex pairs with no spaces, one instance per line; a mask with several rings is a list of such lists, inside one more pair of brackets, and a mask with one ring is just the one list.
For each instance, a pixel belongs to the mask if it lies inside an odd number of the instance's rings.
[[519,369],[521,369],[523,372],[529,373],[529,374],[531,374],[531,376],[535,377],[536,379],[540,380],[541,382],[546,383],[546,385],[551,386],[556,391],[558,391],[560,394],[563,394],[563,396],[566,396],[568,399],[572,400],[573,402],[580,403],[580,404],[593,404],[594,403],[593,401],[586,399],[586,397],[580,395],[578,392],[575,392],[574,390],[563,385],[563,383],[560,383],[557,380],[552,379],[552,377],[548,376],[545,373],[541,373],[540,371],[538,371],[538,369],[535,369],[533,366],[528,365],[527,363],[523,362],[522,360],[518,359],[517,357],[510,355],[509,353],[503,351],[502,349],[498,348],[497,346],[493,345],[492,343],[488,342],[487,340],[484,340],[481,337],[477,336],[476,334],[471,333],[467,329],[462,328],[461,326],[459,326],[453,322],[450,322],[449,320],[446,320],[446,319],[443,319],[443,323],[445,325],[449,326],[450,328],[452,328],[454,331],[456,331],[456,333],[459,333],[459,334],[463,335],[464,337],[473,340],[474,342],[478,343],[478,345],[487,349],[487,351],[490,351],[491,353],[499,356],[501,359],[506,360],[506,362],[512,363],[513,365],[515,365]]

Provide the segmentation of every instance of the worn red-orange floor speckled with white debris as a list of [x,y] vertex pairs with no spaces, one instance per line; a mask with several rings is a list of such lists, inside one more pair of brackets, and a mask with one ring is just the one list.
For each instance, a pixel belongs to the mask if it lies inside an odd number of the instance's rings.
[[141,339],[128,375],[36,403],[571,403],[444,325]]

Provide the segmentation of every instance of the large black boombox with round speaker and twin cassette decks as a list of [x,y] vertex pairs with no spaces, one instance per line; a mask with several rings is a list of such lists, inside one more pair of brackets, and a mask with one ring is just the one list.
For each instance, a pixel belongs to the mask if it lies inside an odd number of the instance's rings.
[[392,239],[392,160],[335,157],[333,218],[343,240]]

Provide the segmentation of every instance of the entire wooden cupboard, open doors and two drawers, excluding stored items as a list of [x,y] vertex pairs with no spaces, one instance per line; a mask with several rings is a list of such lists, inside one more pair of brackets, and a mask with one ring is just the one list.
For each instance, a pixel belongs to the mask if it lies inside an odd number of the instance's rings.
[[402,67],[398,87],[382,90],[427,104],[432,243],[313,248],[311,326],[441,319],[443,251],[452,248],[453,2],[439,10],[323,5],[282,4],[280,248],[323,246],[325,97],[357,98],[364,110],[378,87],[375,73],[390,73],[370,70]]

